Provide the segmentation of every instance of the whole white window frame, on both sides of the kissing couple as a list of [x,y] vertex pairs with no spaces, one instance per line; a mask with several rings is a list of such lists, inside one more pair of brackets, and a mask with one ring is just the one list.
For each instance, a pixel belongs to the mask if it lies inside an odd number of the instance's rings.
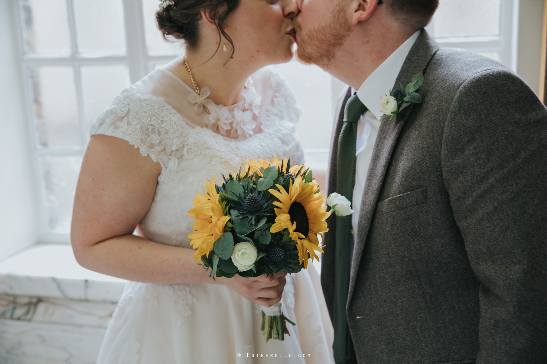
[[[20,5],[18,0],[13,1],[14,11],[14,26],[17,27],[16,34],[18,34],[18,46],[19,46],[19,63],[20,63],[20,79],[24,88],[25,94],[25,113],[30,130],[30,139],[32,140],[32,160],[34,170],[34,188],[36,190],[36,196],[39,198],[38,212],[37,212],[37,230],[38,230],[38,242],[40,243],[69,243],[68,234],[55,234],[49,231],[46,222],[45,209],[43,206],[43,191],[42,182],[40,180],[40,172],[38,166],[38,157],[44,155],[53,156],[79,156],[82,157],[85,151],[86,135],[89,131],[85,130],[85,107],[84,98],[82,94],[82,81],[80,77],[80,67],[82,65],[108,65],[108,64],[124,64],[129,69],[130,82],[136,82],[143,76],[148,74],[154,68],[155,64],[167,63],[171,61],[174,56],[151,56],[148,55],[146,46],[146,37],[144,32],[143,12],[141,0],[123,0],[124,10],[124,26],[126,37],[126,55],[125,56],[107,56],[107,57],[86,57],[80,56],[77,52],[77,40],[75,37],[75,22],[73,11],[73,0],[66,0],[68,26],[71,40],[71,56],[69,57],[48,57],[40,55],[25,54],[25,40],[24,32],[22,30],[22,16],[20,11]],[[437,39],[440,46],[443,47],[460,47],[469,49],[476,52],[497,51],[500,54],[500,61],[507,65],[511,70],[516,71],[516,59],[517,59],[517,29],[518,29],[518,16],[519,16],[519,0],[501,0],[502,6],[500,11],[501,21],[500,29],[501,34],[497,37],[468,37],[468,38],[449,38],[449,39]],[[430,33],[432,32],[432,25],[426,27]],[[37,67],[41,65],[67,65],[73,67],[74,70],[74,82],[77,92],[77,105],[78,105],[78,122],[80,126],[80,136],[82,138],[81,149],[68,149],[68,148],[41,148],[38,146],[36,135],[36,126],[34,125],[33,116],[33,103],[32,88],[28,83],[28,68]],[[340,95],[340,92],[346,87],[344,83],[331,78],[331,99],[333,108],[333,120],[336,101]],[[306,158],[315,160],[320,164],[323,164],[326,168],[328,148],[319,148],[313,150],[305,150]]]

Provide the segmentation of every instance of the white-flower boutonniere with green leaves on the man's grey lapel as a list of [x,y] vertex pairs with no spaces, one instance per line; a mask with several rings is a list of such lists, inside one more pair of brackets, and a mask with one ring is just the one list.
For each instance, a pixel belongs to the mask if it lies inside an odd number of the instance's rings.
[[423,73],[421,72],[415,74],[406,87],[403,86],[403,83],[399,82],[401,88],[395,88],[393,91],[390,90],[389,95],[380,100],[380,111],[383,112],[382,117],[391,115],[389,120],[393,120],[399,113],[403,116],[409,115],[412,106],[422,102],[422,96],[416,92],[422,86],[422,83]]

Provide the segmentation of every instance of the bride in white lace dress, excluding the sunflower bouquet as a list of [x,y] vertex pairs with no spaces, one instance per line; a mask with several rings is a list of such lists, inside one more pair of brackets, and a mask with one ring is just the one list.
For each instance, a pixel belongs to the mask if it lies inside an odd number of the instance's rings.
[[[269,64],[293,57],[294,0],[162,1],[185,56],[127,87],[91,128],[72,246],[90,270],[127,279],[97,363],[331,363],[333,329],[313,265],[294,275],[208,277],[192,257],[196,192],[247,158],[302,164],[300,109]],[[133,234],[137,231],[137,234]],[[259,305],[282,302],[284,341]],[[271,358],[271,359],[270,359]]]

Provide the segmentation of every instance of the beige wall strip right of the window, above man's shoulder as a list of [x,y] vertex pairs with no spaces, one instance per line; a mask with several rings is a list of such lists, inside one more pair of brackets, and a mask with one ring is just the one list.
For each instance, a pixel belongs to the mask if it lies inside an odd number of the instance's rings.
[[544,0],[520,0],[517,73],[539,92]]

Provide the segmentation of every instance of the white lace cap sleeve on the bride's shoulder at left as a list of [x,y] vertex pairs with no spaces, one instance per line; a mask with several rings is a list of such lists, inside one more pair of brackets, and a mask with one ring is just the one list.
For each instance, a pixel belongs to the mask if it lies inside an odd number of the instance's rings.
[[139,148],[142,156],[150,156],[165,167],[173,158],[180,157],[177,150],[188,139],[188,129],[162,99],[138,94],[129,86],[96,118],[90,135],[127,140]]

